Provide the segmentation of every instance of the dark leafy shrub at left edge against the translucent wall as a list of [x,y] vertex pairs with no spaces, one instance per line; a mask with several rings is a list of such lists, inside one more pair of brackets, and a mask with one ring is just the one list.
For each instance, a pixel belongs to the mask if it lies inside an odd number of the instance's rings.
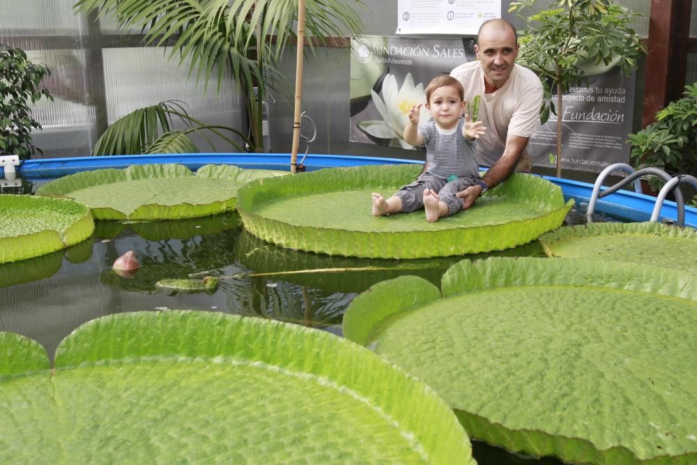
[[20,48],[0,44],[0,154],[28,160],[41,149],[31,143],[31,130],[41,125],[31,116],[31,105],[40,98],[53,100],[41,81],[51,74],[43,65],[26,59]]

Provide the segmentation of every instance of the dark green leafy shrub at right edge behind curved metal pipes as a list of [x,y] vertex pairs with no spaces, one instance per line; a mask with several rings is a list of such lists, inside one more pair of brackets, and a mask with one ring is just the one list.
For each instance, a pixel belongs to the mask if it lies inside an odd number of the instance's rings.
[[[629,135],[629,156],[637,169],[657,167],[673,176],[697,176],[697,82],[685,86],[683,95],[661,109],[654,123]],[[647,181],[654,191],[664,185],[657,176]],[[697,205],[697,196],[692,204]]]

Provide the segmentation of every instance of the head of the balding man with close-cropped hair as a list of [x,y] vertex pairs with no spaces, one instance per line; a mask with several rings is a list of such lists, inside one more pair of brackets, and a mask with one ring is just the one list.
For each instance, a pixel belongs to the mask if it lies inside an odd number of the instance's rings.
[[490,26],[481,31],[475,45],[477,58],[482,63],[487,91],[496,91],[506,83],[513,70],[518,44],[516,36],[508,28]]

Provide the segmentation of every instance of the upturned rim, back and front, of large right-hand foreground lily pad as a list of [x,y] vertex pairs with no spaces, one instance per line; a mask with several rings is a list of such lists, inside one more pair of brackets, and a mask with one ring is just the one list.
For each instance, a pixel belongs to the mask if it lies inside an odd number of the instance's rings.
[[[436,300],[463,294],[541,285],[643,291],[697,303],[697,277],[680,270],[588,259],[494,257],[464,260],[452,266],[443,275],[442,293],[433,284],[414,276],[375,284],[349,305],[344,314],[344,337],[370,347],[376,342],[373,331],[397,314],[413,312]],[[454,411],[470,436],[537,456],[557,455],[570,462],[594,463],[674,463],[697,456],[697,452],[659,455],[661,451],[656,450],[658,453],[652,457],[639,459],[634,450],[622,444],[599,450],[590,439],[533,428],[510,429],[457,406]]]

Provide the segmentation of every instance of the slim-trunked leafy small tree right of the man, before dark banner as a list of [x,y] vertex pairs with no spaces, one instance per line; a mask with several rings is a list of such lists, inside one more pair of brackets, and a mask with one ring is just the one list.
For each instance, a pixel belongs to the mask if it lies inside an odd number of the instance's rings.
[[[608,0],[560,0],[557,8],[535,10],[537,0],[512,1],[509,11],[532,10],[523,17],[518,62],[533,70],[544,86],[540,120],[560,115],[562,94],[588,83],[588,67],[620,66],[629,75],[645,52],[641,38],[629,27],[641,15]],[[547,3],[544,3],[547,4]],[[556,87],[556,104],[551,89]],[[561,177],[562,124],[557,124],[556,175]]]

